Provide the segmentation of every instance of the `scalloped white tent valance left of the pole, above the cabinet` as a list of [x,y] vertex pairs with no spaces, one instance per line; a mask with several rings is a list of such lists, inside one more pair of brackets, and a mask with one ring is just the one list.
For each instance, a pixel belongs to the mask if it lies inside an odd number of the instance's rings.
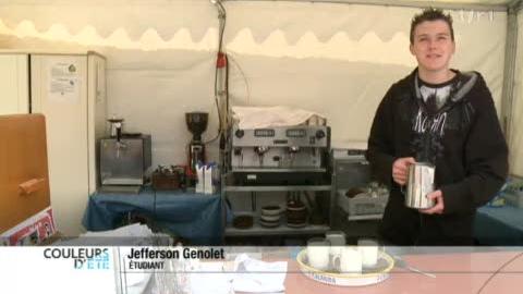
[[217,25],[208,0],[0,0],[0,15],[8,27],[29,21],[38,32],[62,26],[73,35],[88,27],[101,38],[122,29],[135,39],[153,29],[170,39],[187,27],[198,41]]

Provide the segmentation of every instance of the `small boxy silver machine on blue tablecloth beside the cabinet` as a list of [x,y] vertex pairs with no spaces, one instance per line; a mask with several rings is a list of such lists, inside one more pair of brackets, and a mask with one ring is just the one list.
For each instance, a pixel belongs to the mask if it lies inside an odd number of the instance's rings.
[[123,119],[108,122],[110,137],[100,139],[100,191],[138,193],[151,164],[151,137],[123,133]]

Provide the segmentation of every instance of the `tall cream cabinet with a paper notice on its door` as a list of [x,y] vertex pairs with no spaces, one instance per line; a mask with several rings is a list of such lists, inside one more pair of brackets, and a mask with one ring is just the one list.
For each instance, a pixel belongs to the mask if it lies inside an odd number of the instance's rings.
[[92,51],[0,50],[0,114],[46,117],[51,205],[65,235],[83,231],[97,187],[97,140],[105,133],[106,60]]

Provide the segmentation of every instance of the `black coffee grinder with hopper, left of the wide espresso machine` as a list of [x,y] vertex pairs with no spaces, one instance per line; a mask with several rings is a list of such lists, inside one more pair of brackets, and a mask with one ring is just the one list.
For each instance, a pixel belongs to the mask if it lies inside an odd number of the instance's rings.
[[207,130],[207,121],[209,113],[207,112],[186,112],[185,123],[188,131],[193,134],[193,139],[188,144],[188,169],[187,177],[191,180],[191,185],[195,184],[196,180],[196,163],[205,163],[205,145],[202,142],[202,134]]

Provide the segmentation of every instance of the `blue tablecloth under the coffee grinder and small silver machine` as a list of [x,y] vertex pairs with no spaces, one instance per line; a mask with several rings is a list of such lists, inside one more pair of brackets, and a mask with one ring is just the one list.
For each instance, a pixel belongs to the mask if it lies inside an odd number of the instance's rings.
[[195,245],[217,245],[222,241],[219,195],[151,189],[138,195],[98,193],[89,197],[83,224],[89,231],[112,230],[129,213],[150,217],[158,228]]

